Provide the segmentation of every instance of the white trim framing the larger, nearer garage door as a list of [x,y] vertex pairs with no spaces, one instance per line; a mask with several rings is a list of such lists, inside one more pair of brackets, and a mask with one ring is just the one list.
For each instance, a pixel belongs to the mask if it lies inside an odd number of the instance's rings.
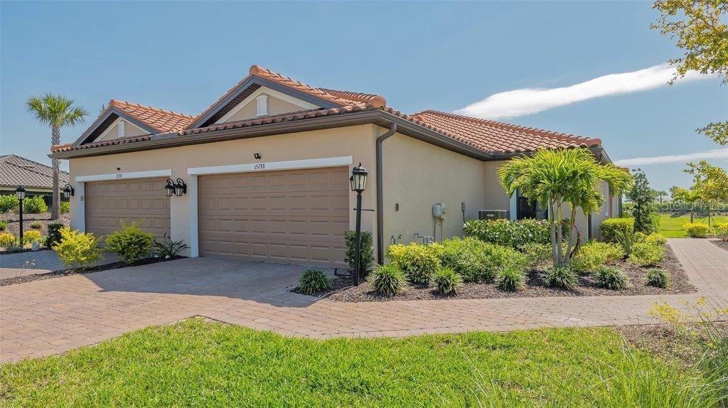
[[353,156],[323,157],[288,161],[261,161],[260,163],[229,164],[227,166],[189,167],[189,251],[191,257],[199,257],[199,215],[197,214],[197,176],[219,175],[223,173],[269,172],[272,170],[311,169],[316,167],[336,167],[354,162]]

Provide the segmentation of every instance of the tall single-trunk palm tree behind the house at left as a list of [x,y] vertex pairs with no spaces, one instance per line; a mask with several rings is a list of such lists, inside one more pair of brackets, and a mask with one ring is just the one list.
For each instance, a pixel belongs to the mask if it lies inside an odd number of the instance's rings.
[[[74,105],[74,100],[63,95],[47,93],[37,97],[29,97],[25,101],[28,112],[33,113],[40,124],[48,125],[51,129],[50,144],[60,145],[60,128],[65,126],[76,126],[83,122],[88,112],[81,106]],[[58,177],[60,173],[60,162],[52,159],[53,163],[53,203],[51,206],[51,220],[57,220],[60,209],[60,187]]]

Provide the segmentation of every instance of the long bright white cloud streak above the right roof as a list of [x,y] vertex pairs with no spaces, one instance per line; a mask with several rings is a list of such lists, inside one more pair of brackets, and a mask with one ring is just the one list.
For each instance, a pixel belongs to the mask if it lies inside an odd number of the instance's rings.
[[[481,119],[515,118],[547,111],[563,105],[605,97],[627,94],[666,86],[675,76],[668,64],[654,65],[632,72],[612,73],[589,81],[561,88],[523,88],[500,92],[480,102],[472,103],[455,111],[461,115]],[[712,76],[691,71],[680,81],[709,79]]]

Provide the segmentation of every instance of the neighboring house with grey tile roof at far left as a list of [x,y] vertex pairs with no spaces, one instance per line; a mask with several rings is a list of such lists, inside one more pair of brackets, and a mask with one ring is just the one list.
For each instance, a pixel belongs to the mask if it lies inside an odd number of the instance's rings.
[[[68,183],[68,172],[58,177],[60,188]],[[50,207],[53,191],[53,169],[45,164],[15,154],[0,156],[0,195],[15,195],[18,185],[25,187],[26,196],[43,196]]]

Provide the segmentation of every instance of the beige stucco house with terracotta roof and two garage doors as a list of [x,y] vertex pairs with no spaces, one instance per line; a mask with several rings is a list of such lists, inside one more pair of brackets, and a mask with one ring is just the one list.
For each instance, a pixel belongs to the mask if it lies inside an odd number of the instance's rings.
[[[452,113],[396,111],[380,95],[316,88],[257,65],[196,116],[111,100],[74,143],[71,226],[109,233],[138,220],[189,244],[190,256],[344,265],[344,230],[355,223],[352,167],[369,171],[363,229],[376,254],[392,243],[462,233],[478,210],[545,216],[507,196],[496,169],[538,148],[590,149],[601,140]],[[167,180],[169,179],[169,180]],[[184,184],[165,196],[165,183]],[[609,195],[606,184],[604,193]],[[598,236],[616,200],[579,219]],[[445,204],[443,217],[433,205]]]

